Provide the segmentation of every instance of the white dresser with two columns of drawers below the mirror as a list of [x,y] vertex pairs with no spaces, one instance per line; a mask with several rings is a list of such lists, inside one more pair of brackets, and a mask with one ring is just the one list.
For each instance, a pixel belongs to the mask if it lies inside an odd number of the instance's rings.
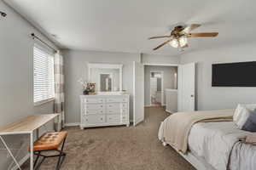
[[80,127],[130,125],[129,94],[81,95]]

